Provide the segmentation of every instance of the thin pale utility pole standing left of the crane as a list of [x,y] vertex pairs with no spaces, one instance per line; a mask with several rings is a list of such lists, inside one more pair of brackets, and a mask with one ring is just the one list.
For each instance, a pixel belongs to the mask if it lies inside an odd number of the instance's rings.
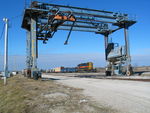
[[5,22],[5,44],[4,44],[4,85],[7,84],[8,76],[8,19],[3,18]]

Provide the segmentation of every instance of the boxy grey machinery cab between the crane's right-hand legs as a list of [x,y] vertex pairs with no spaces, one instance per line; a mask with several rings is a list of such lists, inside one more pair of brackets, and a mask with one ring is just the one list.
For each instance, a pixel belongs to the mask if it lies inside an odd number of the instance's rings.
[[[106,48],[106,60],[108,63],[106,76],[127,74],[127,68],[125,66],[127,61],[125,46],[119,46],[118,43],[108,43]],[[128,74],[131,75],[132,67],[129,69],[129,72]]]

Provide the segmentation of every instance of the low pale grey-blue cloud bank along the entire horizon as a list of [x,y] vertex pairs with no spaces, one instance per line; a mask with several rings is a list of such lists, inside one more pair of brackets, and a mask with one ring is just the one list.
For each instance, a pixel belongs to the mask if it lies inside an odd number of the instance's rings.
[[[9,69],[22,70],[26,67],[23,55],[9,56]],[[75,67],[82,62],[93,62],[95,67],[105,66],[104,54],[45,54],[39,55],[38,67],[50,69],[59,66]],[[132,64],[136,66],[150,65],[150,55],[132,55]],[[0,70],[3,70],[3,56],[0,56]]]

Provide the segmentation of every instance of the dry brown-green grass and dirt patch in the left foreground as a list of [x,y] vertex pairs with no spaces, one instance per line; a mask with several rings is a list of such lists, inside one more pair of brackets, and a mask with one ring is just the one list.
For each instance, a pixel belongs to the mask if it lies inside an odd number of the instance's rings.
[[17,75],[6,86],[0,80],[0,113],[117,113],[82,92],[55,80],[35,81]]

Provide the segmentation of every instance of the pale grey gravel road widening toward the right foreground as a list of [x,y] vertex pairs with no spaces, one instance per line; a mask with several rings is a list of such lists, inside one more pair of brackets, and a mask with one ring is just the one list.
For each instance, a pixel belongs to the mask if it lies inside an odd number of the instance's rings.
[[64,85],[84,89],[97,103],[120,113],[150,113],[150,82],[43,75]]

